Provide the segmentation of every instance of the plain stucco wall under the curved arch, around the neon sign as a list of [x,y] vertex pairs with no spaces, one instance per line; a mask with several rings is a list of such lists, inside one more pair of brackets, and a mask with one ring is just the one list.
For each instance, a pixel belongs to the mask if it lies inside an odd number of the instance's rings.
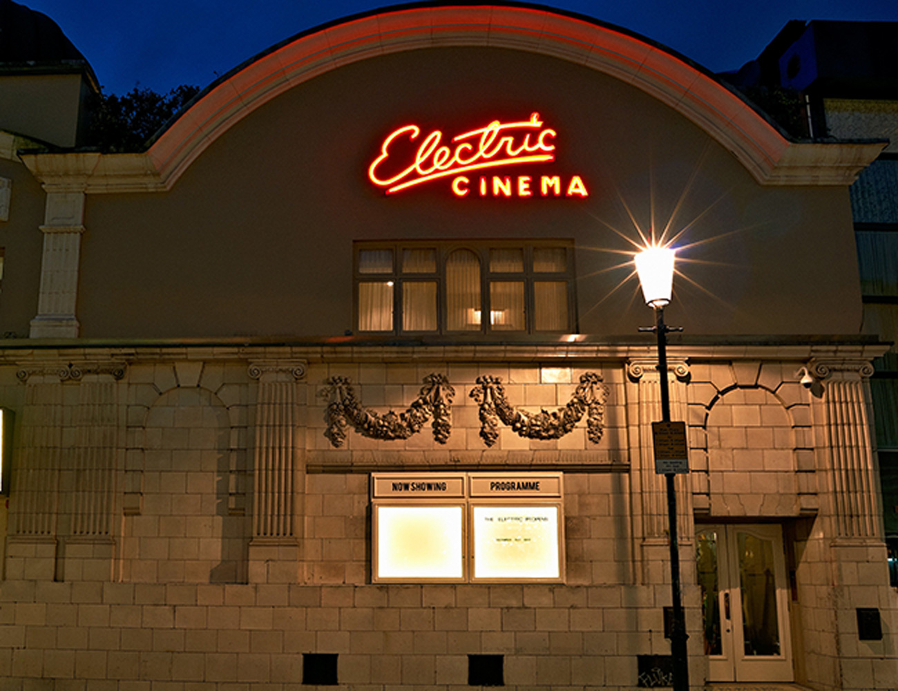
[[[368,164],[414,121],[447,136],[539,111],[553,173],[588,199],[456,199],[448,182],[384,196]],[[521,173],[540,174],[539,168]],[[167,193],[89,194],[77,317],[84,337],[342,335],[352,241],[574,238],[584,333],[646,321],[616,251],[629,215],[683,230],[670,318],[691,333],[854,333],[847,190],[764,188],[721,146],[637,89],[506,49],[427,49],[340,67],[220,137]]]

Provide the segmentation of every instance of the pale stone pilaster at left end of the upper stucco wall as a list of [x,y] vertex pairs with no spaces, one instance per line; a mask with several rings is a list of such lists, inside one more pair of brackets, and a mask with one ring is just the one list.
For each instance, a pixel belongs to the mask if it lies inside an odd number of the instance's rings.
[[38,314],[31,338],[77,338],[75,301],[84,233],[84,185],[44,185],[44,252],[40,263]]

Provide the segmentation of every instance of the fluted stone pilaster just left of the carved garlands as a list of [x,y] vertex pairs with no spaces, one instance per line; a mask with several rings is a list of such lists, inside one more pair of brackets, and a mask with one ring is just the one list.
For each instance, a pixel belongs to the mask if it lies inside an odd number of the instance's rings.
[[306,363],[259,362],[256,397],[251,583],[293,583],[298,578],[304,430],[297,383]]

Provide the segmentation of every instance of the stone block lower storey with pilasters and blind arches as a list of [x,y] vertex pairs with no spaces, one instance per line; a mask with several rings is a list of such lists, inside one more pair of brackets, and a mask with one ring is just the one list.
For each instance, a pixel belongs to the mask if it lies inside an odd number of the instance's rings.
[[[324,350],[66,353],[0,367],[4,404],[19,413],[0,582],[7,687],[286,691],[302,683],[304,654],[330,653],[340,684],[371,691],[465,687],[471,654],[504,655],[509,687],[623,689],[637,685],[638,655],[669,651],[647,359]],[[676,487],[694,683],[707,670],[694,521],[735,519],[784,527],[797,680],[890,688],[895,598],[859,360],[711,355],[674,358],[670,373],[691,448]],[[802,363],[816,388],[795,381]],[[483,434],[479,377],[499,377],[508,405],[533,415],[562,411],[586,373],[601,377],[601,439],[585,415],[558,439],[502,421]],[[339,444],[327,434],[333,377],[383,416],[406,412],[431,375],[454,388],[445,444],[430,421],[408,439],[355,424]],[[565,584],[371,584],[370,474],[427,469],[562,471]],[[857,607],[879,609],[882,641],[858,640]]]

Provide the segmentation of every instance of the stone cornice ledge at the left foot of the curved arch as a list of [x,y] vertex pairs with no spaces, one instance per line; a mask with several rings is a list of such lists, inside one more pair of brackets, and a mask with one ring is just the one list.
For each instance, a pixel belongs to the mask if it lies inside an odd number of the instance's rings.
[[45,188],[87,193],[167,190],[146,154],[22,154],[22,162]]

